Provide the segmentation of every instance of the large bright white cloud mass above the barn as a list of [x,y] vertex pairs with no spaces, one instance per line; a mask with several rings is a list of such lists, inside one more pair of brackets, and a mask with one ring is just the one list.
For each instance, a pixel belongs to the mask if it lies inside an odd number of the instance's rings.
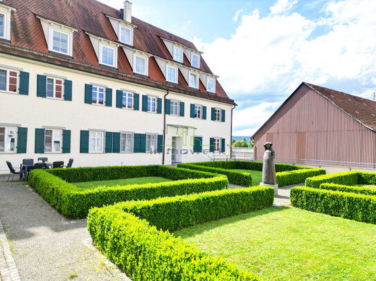
[[233,122],[238,133],[262,125],[271,115],[262,105],[281,104],[302,81],[346,85],[334,89],[362,96],[376,90],[376,1],[330,1],[318,19],[288,14],[294,3],[280,0],[266,17],[258,10],[242,14],[229,39],[193,39],[240,105]]

